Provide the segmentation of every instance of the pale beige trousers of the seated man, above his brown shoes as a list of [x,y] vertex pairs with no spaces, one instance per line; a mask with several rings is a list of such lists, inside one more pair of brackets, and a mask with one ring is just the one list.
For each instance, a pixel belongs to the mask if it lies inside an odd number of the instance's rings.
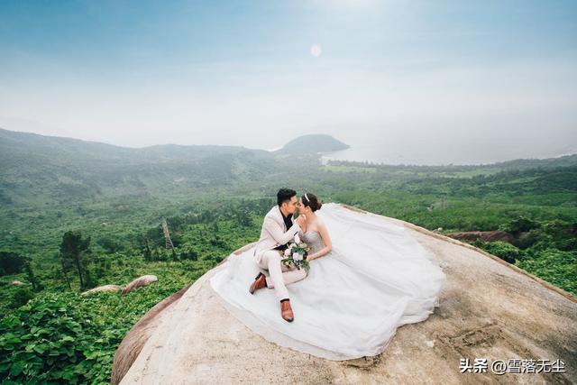
[[283,254],[278,250],[268,250],[257,254],[256,261],[261,269],[269,270],[270,276],[266,278],[269,289],[275,289],[277,298],[289,298],[286,285],[302,280],[307,277],[307,271],[297,269],[295,266],[287,267],[282,260]]

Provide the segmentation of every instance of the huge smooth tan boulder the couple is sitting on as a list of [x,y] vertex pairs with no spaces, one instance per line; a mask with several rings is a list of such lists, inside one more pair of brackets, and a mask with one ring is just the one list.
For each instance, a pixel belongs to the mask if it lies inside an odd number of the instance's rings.
[[[468,243],[386,218],[408,227],[435,252],[447,282],[435,313],[398,327],[380,355],[328,361],[252,333],[231,316],[210,286],[210,277],[225,267],[224,260],[153,307],[142,318],[147,327],[133,327],[114,357],[112,382],[577,382],[575,296]],[[489,365],[498,359],[561,359],[566,372],[497,375],[490,367],[487,373],[460,372],[460,359],[476,358],[487,358]]]

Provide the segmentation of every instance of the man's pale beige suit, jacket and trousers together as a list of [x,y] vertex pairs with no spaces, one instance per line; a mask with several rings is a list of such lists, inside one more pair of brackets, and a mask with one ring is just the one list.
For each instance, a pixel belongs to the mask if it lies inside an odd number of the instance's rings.
[[274,206],[264,216],[261,238],[254,247],[254,260],[261,269],[269,270],[270,276],[266,279],[267,286],[269,289],[275,289],[279,300],[289,298],[286,285],[307,276],[307,271],[304,269],[288,268],[281,263],[283,252],[274,250],[275,247],[288,243],[298,231],[300,231],[300,226],[297,223],[287,229],[280,207]]

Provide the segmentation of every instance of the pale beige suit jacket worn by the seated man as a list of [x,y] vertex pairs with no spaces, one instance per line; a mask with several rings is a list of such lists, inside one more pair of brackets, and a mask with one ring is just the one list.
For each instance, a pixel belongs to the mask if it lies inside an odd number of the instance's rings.
[[256,256],[258,261],[261,258],[262,252],[288,243],[298,231],[300,231],[300,226],[296,222],[287,230],[287,225],[285,225],[285,221],[282,219],[279,205],[272,207],[267,215],[264,215],[261,238],[254,248],[253,255]]

